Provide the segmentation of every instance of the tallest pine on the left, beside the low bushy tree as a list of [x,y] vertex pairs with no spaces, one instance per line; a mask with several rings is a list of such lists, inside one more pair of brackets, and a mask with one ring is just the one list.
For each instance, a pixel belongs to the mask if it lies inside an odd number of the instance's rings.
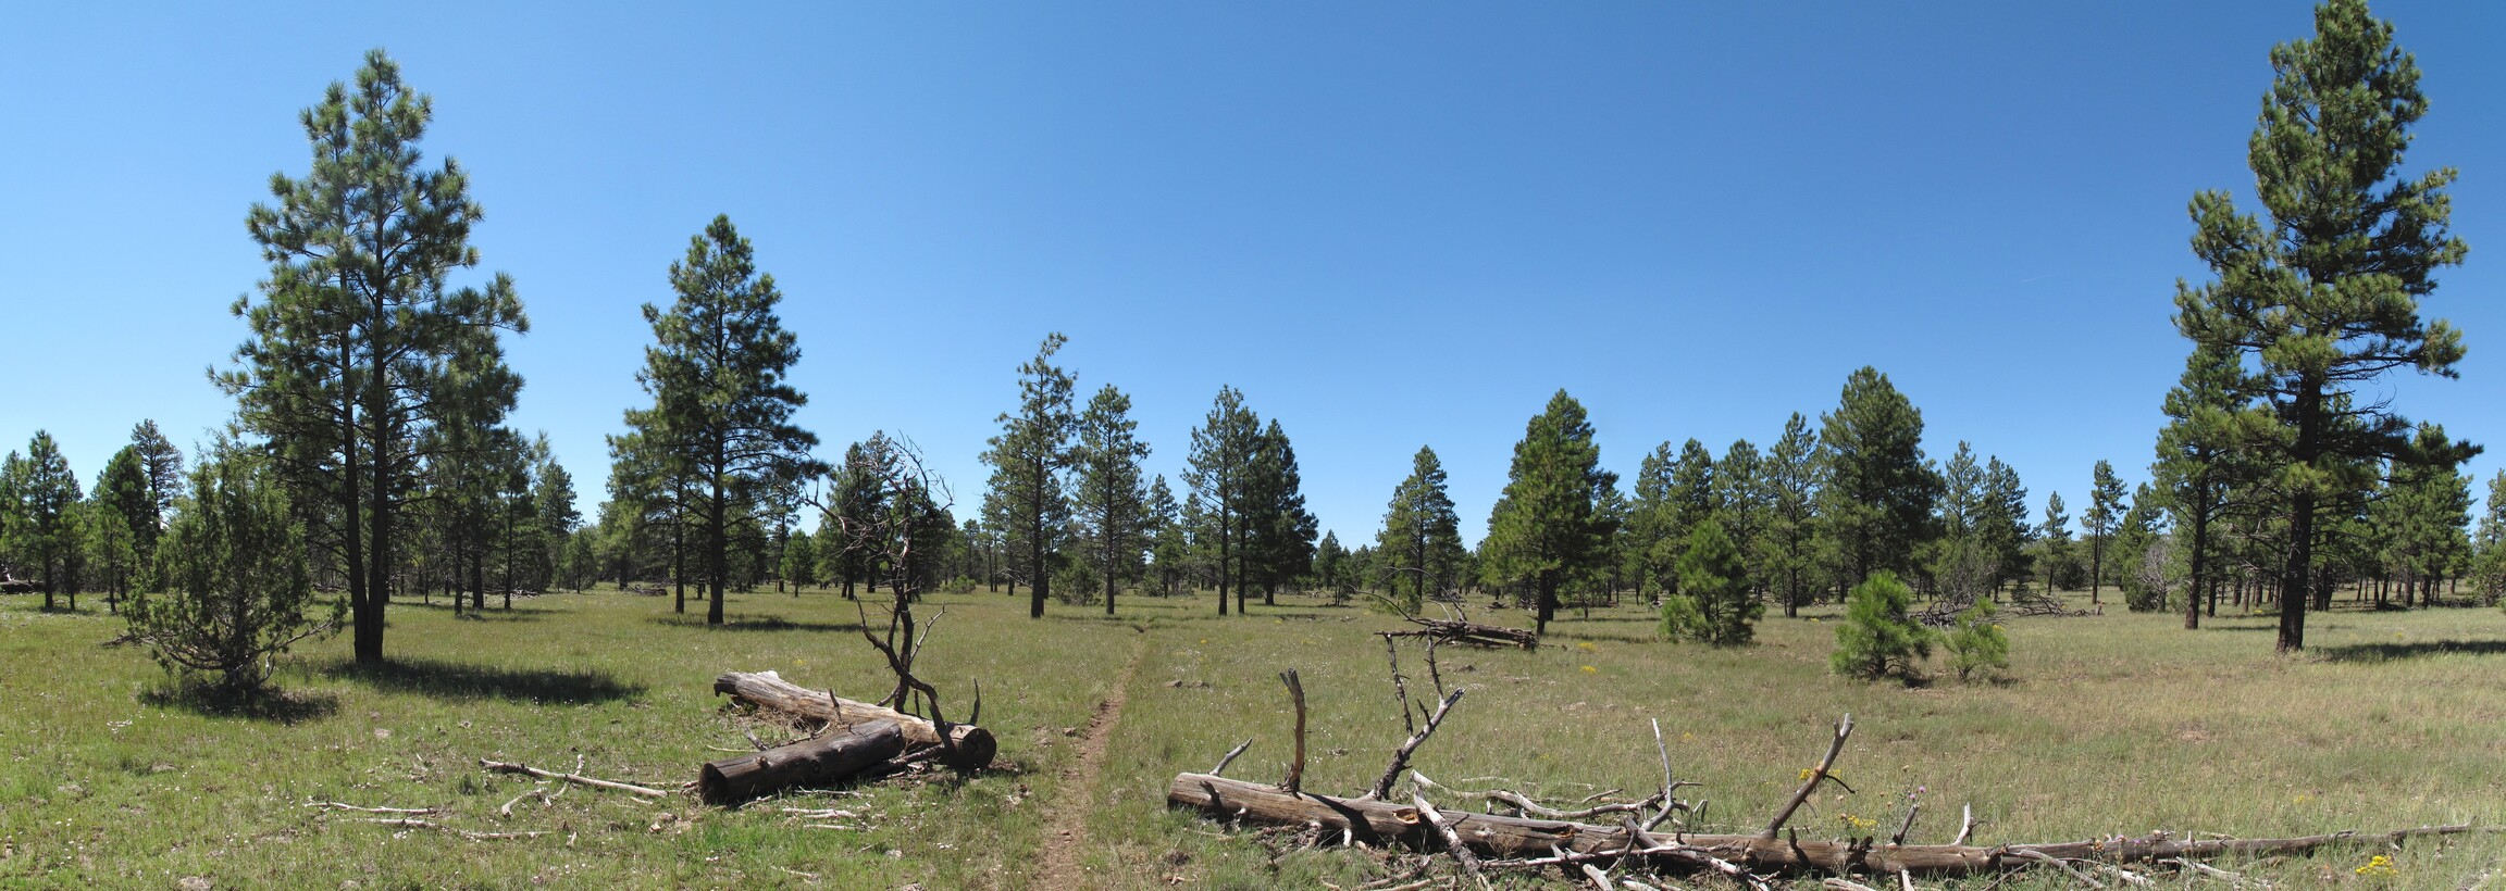
[[[356,85],[333,83],[298,120],[313,145],[303,178],[271,175],[276,205],[248,228],[271,275],[233,313],[251,328],[218,385],[238,420],[271,440],[276,473],[318,526],[308,533],[348,576],[351,648],[383,661],[383,608],[401,568],[403,498],[426,471],[421,443],[456,385],[511,385],[496,338],[524,333],[504,273],[454,288],[479,265],[479,203],[451,158],[421,168],[434,100],[401,83],[383,50]],[[454,365],[474,373],[454,375]]]

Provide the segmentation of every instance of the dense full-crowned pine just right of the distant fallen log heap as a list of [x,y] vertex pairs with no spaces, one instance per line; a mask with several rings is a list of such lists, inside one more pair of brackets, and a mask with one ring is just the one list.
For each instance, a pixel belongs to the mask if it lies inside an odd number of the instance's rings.
[[1616,486],[1619,476],[1601,471],[1601,446],[1584,403],[1559,390],[1514,443],[1506,491],[1489,511],[1481,541],[1481,576],[1531,591],[1534,633],[1549,631],[1561,588],[1606,571],[1599,563],[1614,531],[1599,503]]

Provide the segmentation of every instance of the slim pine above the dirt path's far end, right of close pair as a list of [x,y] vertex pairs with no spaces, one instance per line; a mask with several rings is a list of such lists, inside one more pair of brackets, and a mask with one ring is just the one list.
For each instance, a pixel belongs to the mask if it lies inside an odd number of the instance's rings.
[[1105,616],[1113,616],[1115,591],[1140,573],[1150,526],[1148,486],[1140,478],[1148,443],[1140,440],[1140,423],[1130,420],[1130,395],[1113,383],[1078,415],[1073,458],[1078,521],[1105,578]]

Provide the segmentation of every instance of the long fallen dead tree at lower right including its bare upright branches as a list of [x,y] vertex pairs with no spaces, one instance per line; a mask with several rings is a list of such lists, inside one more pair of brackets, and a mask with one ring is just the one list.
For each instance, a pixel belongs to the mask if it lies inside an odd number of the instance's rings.
[[[1391,648],[1391,636],[1386,636]],[[1431,666],[1431,676],[1433,676]],[[1393,751],[1391,763],[1373,788],[1353,796],[1323,796],[1301,788],[1306,768],[1306,691],[1296,671],[1281,676],[1296,703],[1296,751],[1288,776],[1281,783],[1256,783],[1220,776],[1235,756],[1253,746],[1228,751],[1208,773],[1178,773],[1165,791],[1168,806],[1193,808],[1230,823],[1266,823],[1303,828],[1313,846],[1406,846],[1413,851],[1443,851],[1481,888],[1494,871],[1556,871],[1566,881],[1591,881],[1599,888],[1654,888],[1666,876],[1722,876],[1727,881],[1769,888],[1784,876],[1829,876],[1837,888],[1864,888],[1834,876],[1877,876],[1887,883],[1912,886],[1915,876],[1955,878],[1980,873],[2007,873],[2022,868],[2057,868],[2090,886],[2105,886],[2095,876],[2113,876],[2133,886],[2155,883],[2145,876],[2153,868],[2200,873],[2238,881],[2235,873],[2203,863],[2218,856],[2278,856],[2306,853],[2323,846],[2391,843],[2416,836],[2466,833],[2471,826],[2421,826],[2383,833],[2326,833],[2301,838],[2188,838],[2170,833],[2105,836],[2055,843],[1970,843],[1977,828],[1975,811],[1962,808],[1957,836],[1947,843],[1907,843],[1920,798],[1907,798],[1907,808],[1895,831],[1885,836],[1802,838],[1787,826],[1792,816],[1822,786],[1844,788],[1834,776],[1844,741],[1854,731],[1854,718],[1844,716],[1827,753],[1814,768],[1802,771],[1802,783],[1782,808],[1754,833],[1692,833],[1684,821],[1704,811],[1704,803],[1682,801],[1679,788],[1697,786],[1672,773],[1669,746],[1661,741],[1661,723],[1654,723],[1654,751],[1661,756],[1661,788],[1641,801],[1594,803],[1584,808],[1556,808],[1516,791],[1481,791],[1489,803],[1514,813],[1481,813],[1428,803],[1428,791],[1438,786],[1408,771],[1411,783],[1396,793],[1396,783],[1411,756],[1443,723],[1464,691],[1443,693],[1438,706]],[[1401,718],[1411,721],[1411,708],[1423,711],[1406,696],[1398,653],[1393,653],[1393,688],[1401,696]],[[1438,683],[1441,691],[1441,683]],[[1589,798],[1584,801],[1589,803]],[[1614,818],[1614,821],[1611,821]],[[1664,826],[1669,823],[1669,826]]]

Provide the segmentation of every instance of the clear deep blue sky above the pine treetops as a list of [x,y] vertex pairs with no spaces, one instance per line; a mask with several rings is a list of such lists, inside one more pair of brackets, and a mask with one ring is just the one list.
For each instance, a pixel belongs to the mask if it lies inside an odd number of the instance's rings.
[[[1278,418],[1356,546],[1433,446],[1476,541],[1549,393],[1634,478],[1769,443],[1877,365],[2032,501],[2145,478],[2203,280],[2185,203],[2250,203],[2245,138],[2308,3],[23,5],[0,30],[0,446],[93,481],[130,425],[203,440],[263,275],[243,215],[296,113],[386,48],[486,208],[531,335],[511,423],[584,491],[667,303],[729,213],[784,290],[802,423],[975,456],[1048,330],[1133,393],[1155,471],[1223,383]],[[2433,103],[2471,260],[2413,415],[2506,451],[2506,5],[2376,13]],[[2483,456],[2473,473],[2501,466]]]

